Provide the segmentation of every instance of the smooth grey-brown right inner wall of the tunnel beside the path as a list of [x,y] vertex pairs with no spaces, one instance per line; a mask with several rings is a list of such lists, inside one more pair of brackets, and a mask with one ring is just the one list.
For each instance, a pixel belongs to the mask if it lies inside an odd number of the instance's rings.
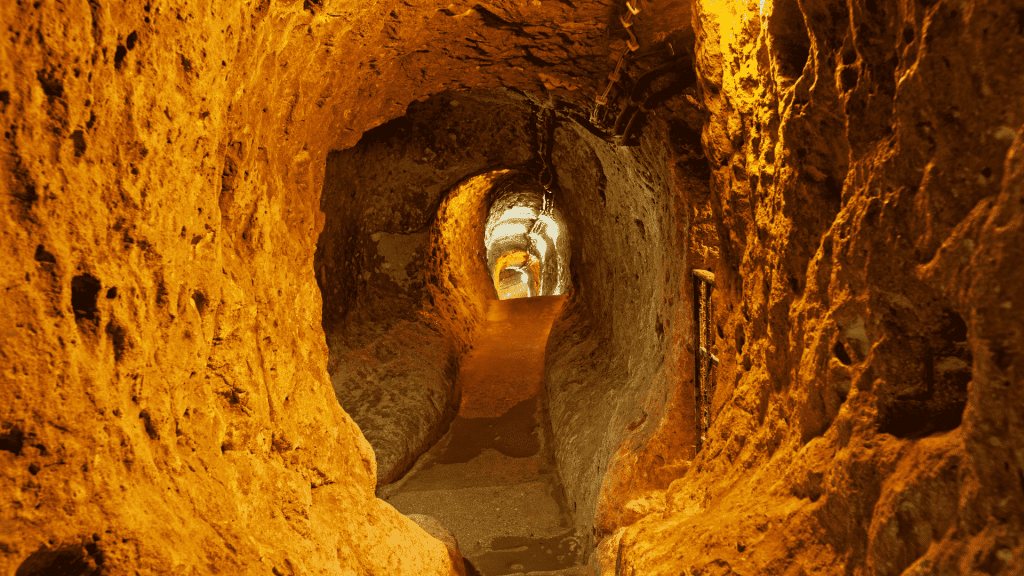
[[556,132],[574,288],[552,328],[546,387],[559,474],[590,544],[635,522],[629,503],[692,457],[689,214],[672,194],[671,155],[659,140],[624,149],[571,125]]

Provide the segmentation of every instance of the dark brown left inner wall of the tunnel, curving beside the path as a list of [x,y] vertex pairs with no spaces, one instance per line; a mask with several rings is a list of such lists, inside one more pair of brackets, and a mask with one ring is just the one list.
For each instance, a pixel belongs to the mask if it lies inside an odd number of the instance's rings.
[[511,96],[437,94],[328,158],[315,261],[328,370],[380,484],[458,409],[459,359],[494,298],[483,224],[505,175],[495,170],[532,158],[530,108]]

